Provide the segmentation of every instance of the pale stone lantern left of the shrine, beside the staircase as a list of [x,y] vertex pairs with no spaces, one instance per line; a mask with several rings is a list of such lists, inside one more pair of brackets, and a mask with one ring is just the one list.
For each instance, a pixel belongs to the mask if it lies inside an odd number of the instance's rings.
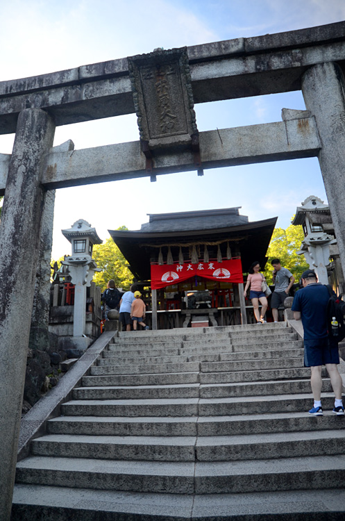
[[90,286],[94,273],[101,271],[92,259],[92,247],[103,241],[91,224],[83,219],[76,221],[70,229],[62,230],[62,235],[71,242],[72,249],[71,256],[62,261],[68,267],[71,283],[75,286],[71,344],[85,350],[91,343],[91,339],[85,336],[86,288]]

